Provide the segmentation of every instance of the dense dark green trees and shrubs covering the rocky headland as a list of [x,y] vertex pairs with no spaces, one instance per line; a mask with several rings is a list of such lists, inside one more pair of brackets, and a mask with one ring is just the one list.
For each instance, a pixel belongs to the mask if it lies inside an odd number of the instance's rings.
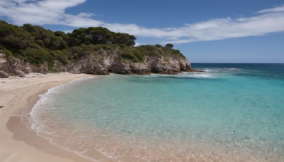
[[[79,28],[72,33],[50,31],[40,26],[24,24],[14,26],[0,21],[0,50],[7,57],[19,58],[33,65],[48,63],[52,70],[55,60],[62,65],[75,62],[84,55],[97,55],[102,50],[109,52],[119,49],[122,60],[142,62],[146,55],[172,53],[182,55],[174,50],[172,44],[141,45],[134,47],[135,36],[127,33],[114,33],[107,28]],[[182,55],[183,56],[183,55]]]

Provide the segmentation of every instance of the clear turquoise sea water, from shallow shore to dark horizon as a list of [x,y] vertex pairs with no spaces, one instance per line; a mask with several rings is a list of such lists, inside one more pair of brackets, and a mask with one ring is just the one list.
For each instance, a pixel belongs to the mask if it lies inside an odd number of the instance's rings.
[[284,64],[193,64],[206,72],[109,75],[43,95],[32,128],[96,159],[284,161]]

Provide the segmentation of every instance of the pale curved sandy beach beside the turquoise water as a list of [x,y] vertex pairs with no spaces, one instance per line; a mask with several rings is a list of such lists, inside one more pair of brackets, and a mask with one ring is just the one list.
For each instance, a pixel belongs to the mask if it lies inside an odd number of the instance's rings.
[[39,99],[38,95],[51,87],[82,77],[97,76],[62,72],[48,75],[31,73],[26,77],[0,79],[0,106],[4,106],[0,108],[0,161],[89,161],[50,144],[21,123],[23,112],[31,111]]

